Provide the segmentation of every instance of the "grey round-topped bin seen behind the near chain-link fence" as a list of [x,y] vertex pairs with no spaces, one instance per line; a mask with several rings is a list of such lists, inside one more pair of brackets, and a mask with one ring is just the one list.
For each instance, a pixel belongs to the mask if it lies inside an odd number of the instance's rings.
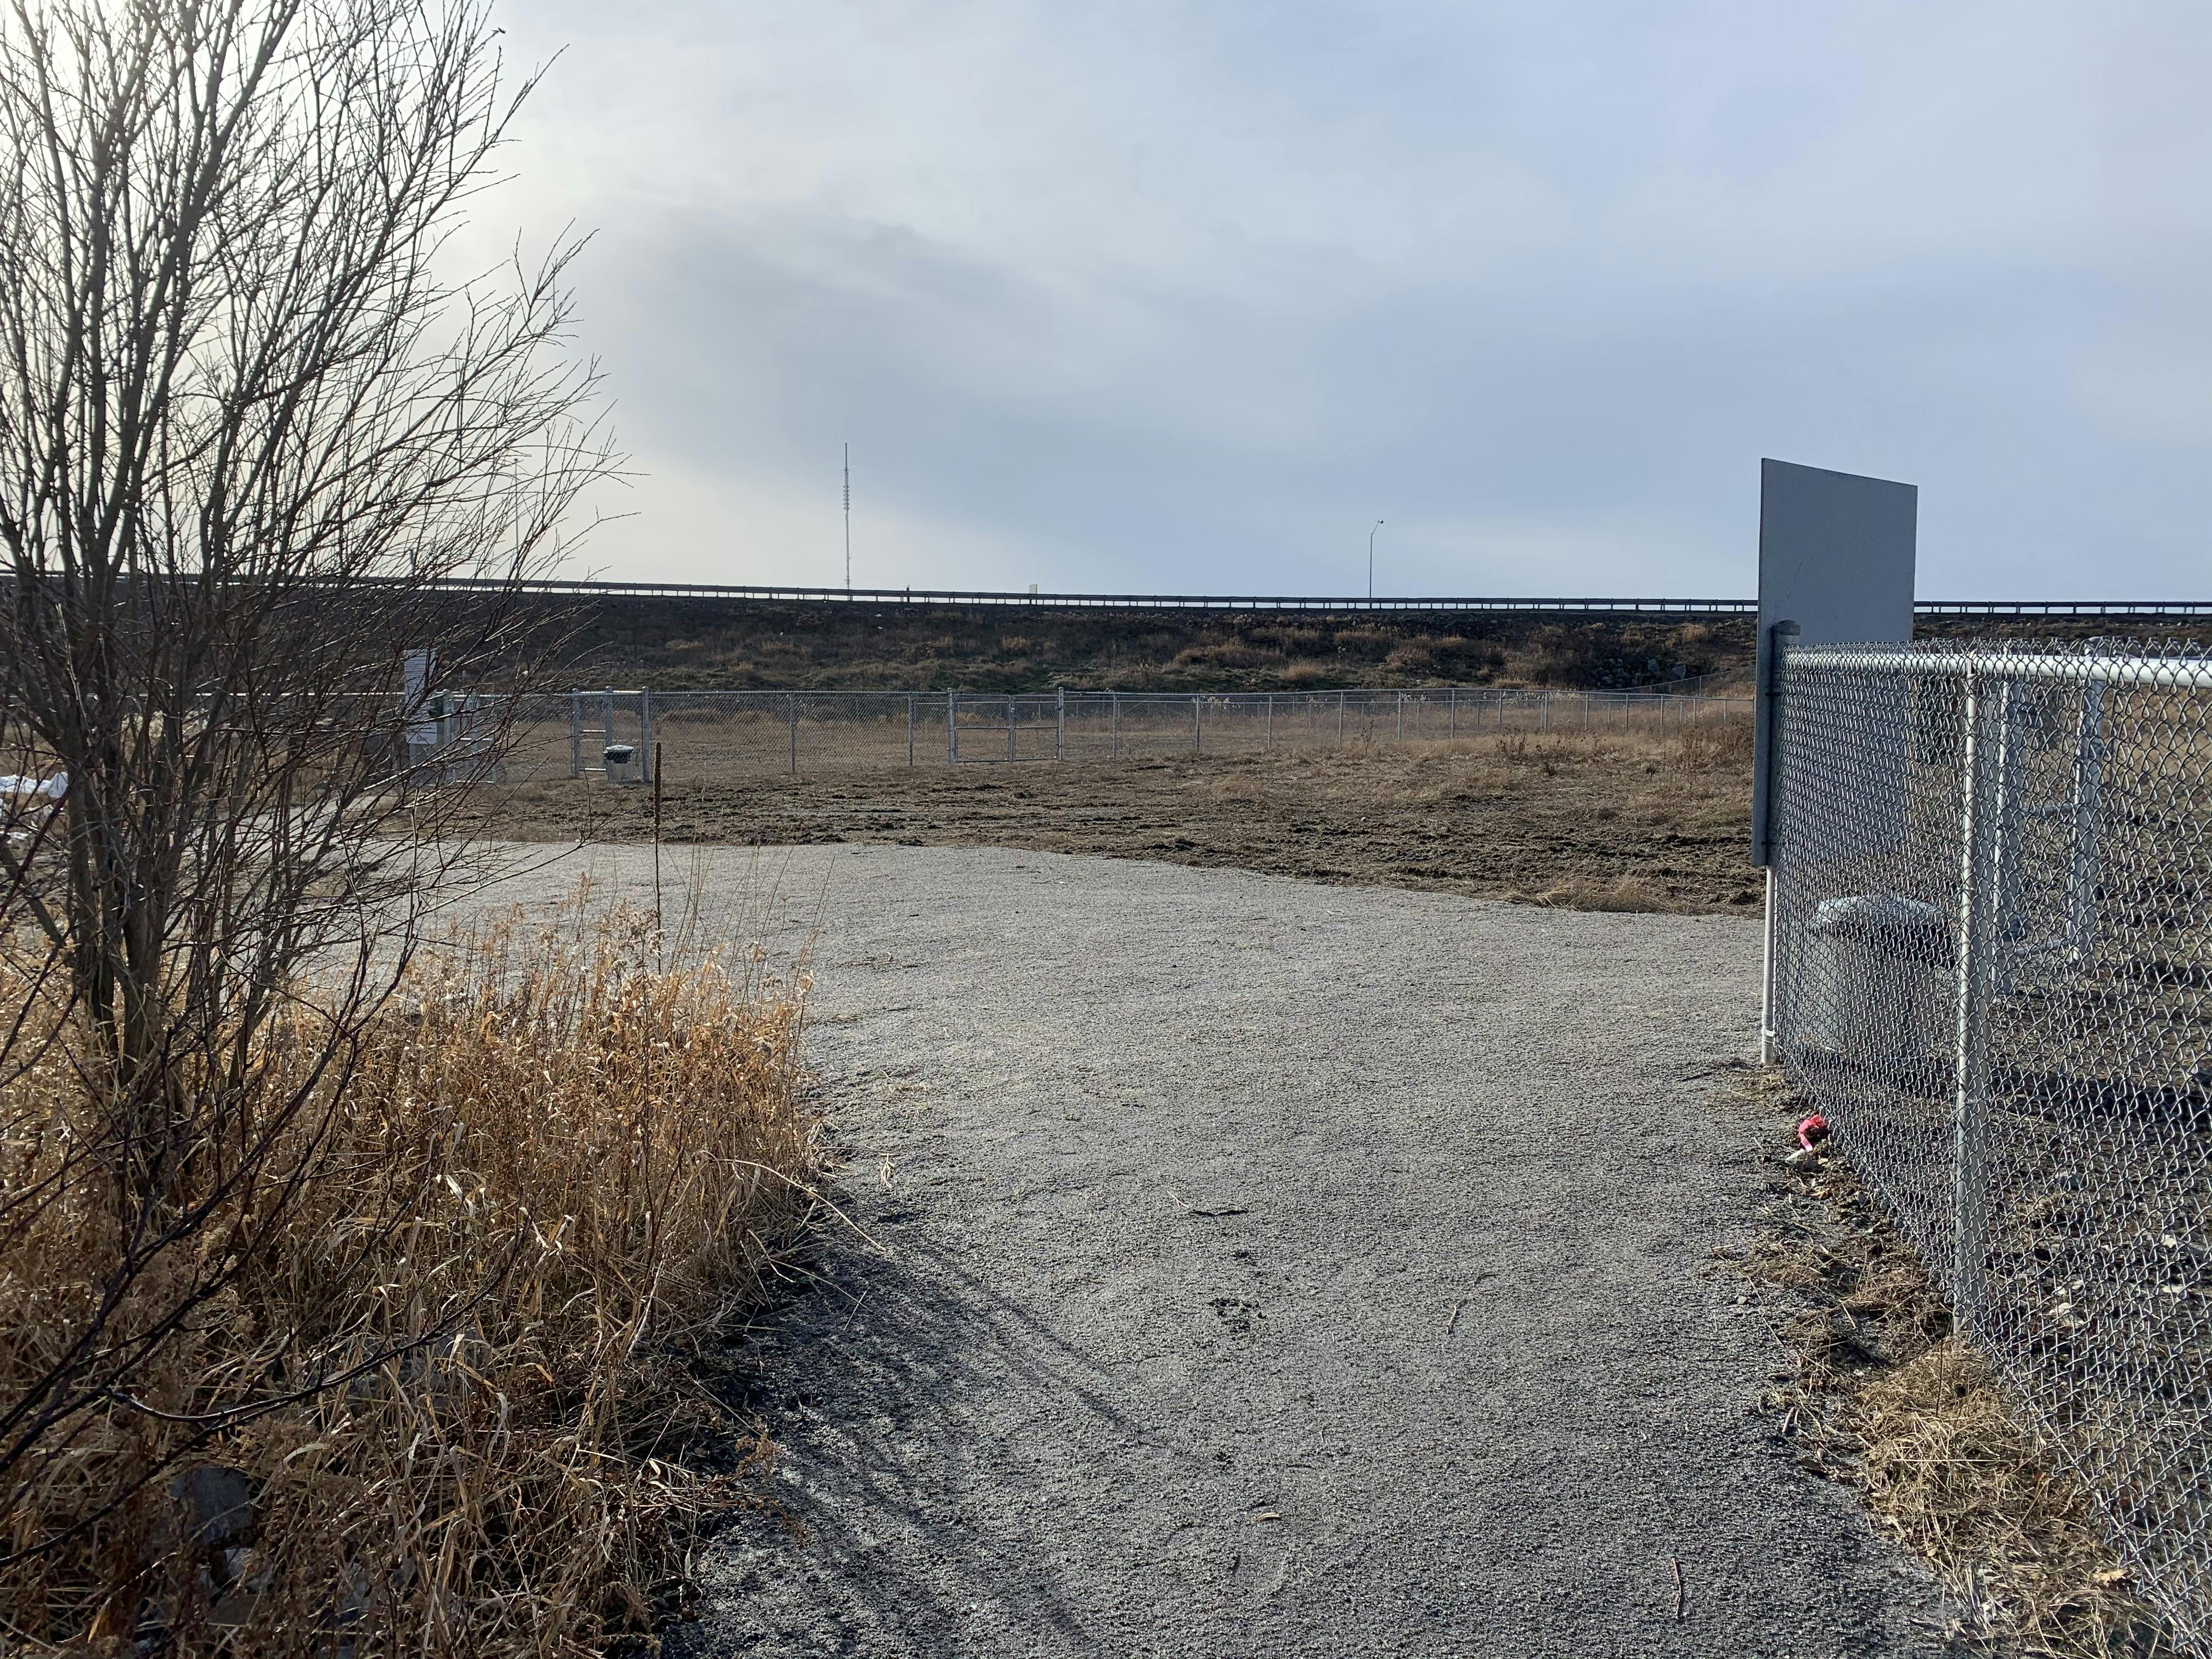
[[1796,1031],[1807,1048],[1902,1082],[1949,1064],[1951,925],[1896,894],[1823,898],[1805,925]]

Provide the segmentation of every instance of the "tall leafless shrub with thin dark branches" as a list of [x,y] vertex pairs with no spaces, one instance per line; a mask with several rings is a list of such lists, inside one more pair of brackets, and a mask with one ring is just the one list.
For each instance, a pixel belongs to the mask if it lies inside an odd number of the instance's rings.
[[473,0],[0,31],[0,770],[66,772],[0,812],[0,1577],[55,1639],[133,1635],[197,1458],[336,1433],[529,1254],[493,1206],[422,1281],[489,1108],[374,1119],[504,741],[495,708],[434,765],[409,737],[440,681],[515,684],[513,595],[613,467],[562,356],[573,248],[447,261],[526,91],[495,33]]

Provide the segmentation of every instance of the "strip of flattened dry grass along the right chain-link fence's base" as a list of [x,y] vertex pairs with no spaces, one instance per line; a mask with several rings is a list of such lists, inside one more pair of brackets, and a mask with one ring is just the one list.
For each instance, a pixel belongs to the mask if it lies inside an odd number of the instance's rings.
[[[1772,1077],[1754,1086],[1796,1121]],[[1778,1148],[1787,1137],[1776,1135]],[[1776,1164],[1794,1214],[1732,1267],[1807,1305],[1783,1325],[1794,1374],[1765,1396],[1805,1467],[1856,1486],[1927,1559],[1973,1646],[2051,1659],[2177,1652],[2130,1588],[2095,1506],[2031,1427],[1911,1248],[1838,1157]]]

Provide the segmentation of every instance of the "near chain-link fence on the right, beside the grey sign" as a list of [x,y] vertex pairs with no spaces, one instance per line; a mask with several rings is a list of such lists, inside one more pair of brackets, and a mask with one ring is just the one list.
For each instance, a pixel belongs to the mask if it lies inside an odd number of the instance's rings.
[[1785,657],[1792,1077],[2212,1652],[2212,661]]

